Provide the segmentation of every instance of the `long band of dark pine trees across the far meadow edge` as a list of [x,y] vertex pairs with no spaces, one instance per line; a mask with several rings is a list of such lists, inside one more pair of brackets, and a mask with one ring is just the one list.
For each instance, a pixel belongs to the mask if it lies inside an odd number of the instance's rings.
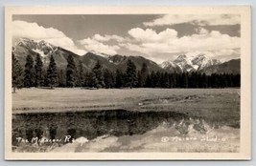
[[125,72],[111,72],[98,61],[90,72],[83,70],[81,61],[77,64],[72,55],[67,57],[66,69],[58,69],[54,56],[45,68],[40,55],[35,60],[26,57],[22,68],[12,52],[12,88],[30,87],[87,87],[87,88],[225,88],[240,87],[241,75],[233,73],[167,73],[149,72],[147,64],[137,70],[128,60]]

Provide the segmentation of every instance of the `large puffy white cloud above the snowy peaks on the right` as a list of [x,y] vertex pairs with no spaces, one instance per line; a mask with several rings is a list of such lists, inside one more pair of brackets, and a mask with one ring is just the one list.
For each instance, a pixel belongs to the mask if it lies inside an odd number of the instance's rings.
[[240,37],[203,28],[197,31],[198,33],[192,35],[178,37],[177,31],[172,29],[156,32],[151,29],[135,28],[128,31],[133,42],[123,43],[121,46],[151,56],[180,52],[208,52],[210,56],[221,56],[240,49]]

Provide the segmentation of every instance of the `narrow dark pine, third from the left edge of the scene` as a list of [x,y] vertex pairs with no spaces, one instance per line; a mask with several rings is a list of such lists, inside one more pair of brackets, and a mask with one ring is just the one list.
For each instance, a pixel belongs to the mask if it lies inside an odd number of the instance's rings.
[[36,54],[35,58],[35,87],[43,85],[43,63],[39,53]]

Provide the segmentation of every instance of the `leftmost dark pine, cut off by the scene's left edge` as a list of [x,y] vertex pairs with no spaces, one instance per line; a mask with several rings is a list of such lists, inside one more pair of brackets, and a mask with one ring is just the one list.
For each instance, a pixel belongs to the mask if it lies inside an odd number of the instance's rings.
[[15,58],[12,52],[12,88],[13,93],[16,93],[16,88],[22,87],[22,68],[19,65],[18,60]]

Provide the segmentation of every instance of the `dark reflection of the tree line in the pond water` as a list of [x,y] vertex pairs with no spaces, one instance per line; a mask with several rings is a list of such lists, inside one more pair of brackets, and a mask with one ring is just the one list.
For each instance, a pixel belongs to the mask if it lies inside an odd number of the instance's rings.
[[143,135],[163,122],[188,118],[187,114],[174,112],[132,112],[126,110],[87,111],[72,113],[16,114],[12,119],[12,145],[15,137],[28,139],[72,139],[84,136],[94,139],[101,135]]

